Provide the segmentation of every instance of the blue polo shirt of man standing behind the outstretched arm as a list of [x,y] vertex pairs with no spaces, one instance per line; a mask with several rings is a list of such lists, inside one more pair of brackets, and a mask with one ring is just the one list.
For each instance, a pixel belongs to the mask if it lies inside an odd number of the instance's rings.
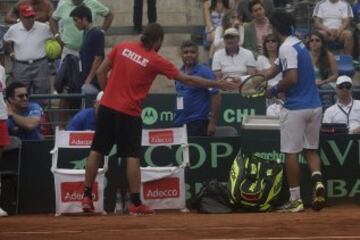
[[[180,68],[184,72],[185,68]],[[215,80],[216,77],[210,68],[197,64],[193,67],[189,75],[203,77],[209,80]],[[185,85],[179,81],[175,81],[176,94],[183,97],[183,109],[175,112],[174,123],[176,126],[190,123],[197,120],[209,119],[211,95],[217,94],[218,89],[207,89]]]

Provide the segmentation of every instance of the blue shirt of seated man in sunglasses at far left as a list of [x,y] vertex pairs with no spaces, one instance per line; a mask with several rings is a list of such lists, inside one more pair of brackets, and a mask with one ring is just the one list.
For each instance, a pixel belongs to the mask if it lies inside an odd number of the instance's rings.
[[[37,117],[41,118],[43,113],[42,108],[39,104],[29,102],[27,108],[21,113],[21,116],[23,117]],[[21,140],[41,140],[43,139],[43,136],[40,132],[40,124],[37,128],[28,131],[23,128],[21,128],[17,123],[14,121],[12,117],[9,117],[7,120],[8,130],[9,134],[11,136],[16,136],[20,138]]]

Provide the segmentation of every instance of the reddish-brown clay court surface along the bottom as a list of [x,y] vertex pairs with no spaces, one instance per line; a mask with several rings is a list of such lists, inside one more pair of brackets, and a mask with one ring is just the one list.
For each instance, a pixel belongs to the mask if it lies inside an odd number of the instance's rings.
[[296,214],[20,215],[0,218],[0,239],[360,239],[360,206]]

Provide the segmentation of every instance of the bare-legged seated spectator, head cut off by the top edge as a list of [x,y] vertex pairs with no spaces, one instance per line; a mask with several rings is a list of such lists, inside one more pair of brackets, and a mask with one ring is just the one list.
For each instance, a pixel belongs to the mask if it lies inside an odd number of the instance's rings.
[[[205,47],[209,49],[215,39],[215,29],[221,25],[225,12],[229,10],[228,0],[204,0],[203,14],[205,21]],[[210,50],[214,52],[214,50]]]

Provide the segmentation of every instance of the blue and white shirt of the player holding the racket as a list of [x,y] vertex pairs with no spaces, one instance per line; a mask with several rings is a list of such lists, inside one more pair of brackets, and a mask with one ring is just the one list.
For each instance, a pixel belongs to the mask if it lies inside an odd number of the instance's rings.
[[284,73],[297,69],[297,82],[285,92],[284,107],[300,110],[321,107],[315,72],[309,51],[296,37],[289,36],[279,49],[279,65]]

